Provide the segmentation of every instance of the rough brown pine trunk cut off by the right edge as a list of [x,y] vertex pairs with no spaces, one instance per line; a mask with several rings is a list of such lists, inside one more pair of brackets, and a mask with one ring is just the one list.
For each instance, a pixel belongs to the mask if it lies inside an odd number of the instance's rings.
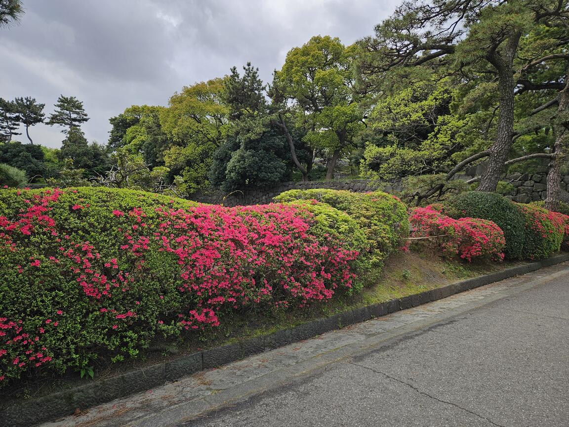
[[[565,81],[569,75],[565,77]],[[569,110],[569,83],[565,84],[563,91],[558,95],[559,108],[557,109],[559,116]],[[565,158],[567,146],[569,146],[569,123],[559,122],[554,126],[555,130],[555,157],[549,163],[547,170],[545,207],[550,211],[559,210],[559,202],[561,199],[566,200],[567,194],[561,190],[561,166]],[[563,196],[563,197],[562,197]]]

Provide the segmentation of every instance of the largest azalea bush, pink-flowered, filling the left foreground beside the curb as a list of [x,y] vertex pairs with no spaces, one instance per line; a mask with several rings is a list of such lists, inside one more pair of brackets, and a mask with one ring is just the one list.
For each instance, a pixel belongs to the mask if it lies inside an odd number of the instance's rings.
[[226,208],[109,188],[0,192],[0,387],[156,336],[361,288],[366,236],[324,203]]

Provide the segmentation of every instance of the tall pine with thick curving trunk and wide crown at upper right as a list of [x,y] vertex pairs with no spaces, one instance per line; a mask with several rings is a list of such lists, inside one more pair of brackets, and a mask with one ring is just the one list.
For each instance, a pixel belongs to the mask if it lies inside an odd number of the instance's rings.
[[[454,63],[478,67],[497,81],[499,97],[496,137],[489,150],[468,161],[488,157],[481,191],[494,191],[512,147],[514,94],[527,81],[518,79],[514,60],[520,40],[535,24],[567,26],[567,0],[414,0],[376,26],[376,36],[361,40],[364,87],[396,67]],[[559,43],[567,44],[562,35]],[[538,61],[542,61],[538,60]],[[555,84],[543,88],[558,88]],[[459,163],[460,165],[460,163]],[[454,172],[459,171],[453,170]]]

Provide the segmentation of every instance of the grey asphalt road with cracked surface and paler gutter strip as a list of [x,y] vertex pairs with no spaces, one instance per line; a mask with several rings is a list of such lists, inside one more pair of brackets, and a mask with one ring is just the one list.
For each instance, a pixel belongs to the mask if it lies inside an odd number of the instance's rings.
[[67,426],[569,426],[569,265],[101,405]]

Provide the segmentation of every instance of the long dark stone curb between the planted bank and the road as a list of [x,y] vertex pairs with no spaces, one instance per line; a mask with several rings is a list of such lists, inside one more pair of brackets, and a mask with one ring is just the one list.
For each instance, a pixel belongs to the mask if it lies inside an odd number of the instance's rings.
[[273,334],[242,340],[236,344],[213,347],[209,350],[180,356],[168,362],[135,369],[115,377],[103,379],[79,387],[53,393],[21,405],[12,405],[0,410],[0,426],[28,427],[73,413],[76,408],[86,409],[120,399],[134,393],[149,390],[176,381],[183,376],[215,368],[263,351],[274,350],[294,342],[313,338],[345,326],[409,309],[418,305],[450,297],[451,295],[489,285],[506,278],[519,276],[535,270],[569,261],[569,253],[545,260],[518,265],[500,272],[474,277],[451,285],[424,291],[408,297],[373,304],[344,311],[327,318],[303,323],[291,329],[279,330]]

